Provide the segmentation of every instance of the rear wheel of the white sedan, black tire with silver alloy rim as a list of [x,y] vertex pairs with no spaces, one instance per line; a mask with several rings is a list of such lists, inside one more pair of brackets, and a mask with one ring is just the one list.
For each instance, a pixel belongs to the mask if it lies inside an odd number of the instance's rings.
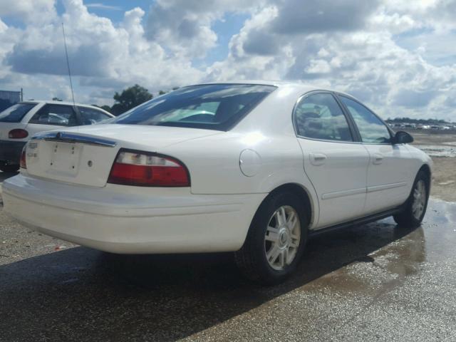
[[307,242],[308,218],[292,192],[269,195],[250,224],[247,239],[234,258],[247,278],[278,284],[296,269]]

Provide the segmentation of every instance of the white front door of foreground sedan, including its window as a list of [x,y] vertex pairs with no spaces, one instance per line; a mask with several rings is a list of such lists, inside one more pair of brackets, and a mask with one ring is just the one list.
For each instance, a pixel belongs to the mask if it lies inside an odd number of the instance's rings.
[[410,152],[405,145],[393,145],[390,130],[371,110],[352,98],[338,98],[351,114],[369,152],[364,214],[397,207],[407,199],[413,182]]

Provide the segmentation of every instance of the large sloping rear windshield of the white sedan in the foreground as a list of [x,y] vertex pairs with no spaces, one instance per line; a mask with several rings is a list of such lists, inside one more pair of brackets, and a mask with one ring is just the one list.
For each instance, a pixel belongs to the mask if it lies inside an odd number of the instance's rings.
[[143,103],[110,123],[229,130],[275,88],[252,84],[185,87]]

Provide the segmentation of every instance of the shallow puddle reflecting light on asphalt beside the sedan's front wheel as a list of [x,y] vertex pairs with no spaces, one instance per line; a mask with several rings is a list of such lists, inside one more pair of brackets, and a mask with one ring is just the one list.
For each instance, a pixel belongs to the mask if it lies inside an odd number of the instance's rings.
[[375,244],[376,240],[382,244],[380,241],[385,239],[385,244],[313,284],[303,286],[303,290],[323,288],[337,293],[384,293],[401,286],[410,277],[433,269],[433,265],[454,258],[456,203],[430,199],[423,224],[417,229],[397,227],[393,219],[388,218],[367,224],[353,233],[358,237],[350,247],[352,251],[357,243]]

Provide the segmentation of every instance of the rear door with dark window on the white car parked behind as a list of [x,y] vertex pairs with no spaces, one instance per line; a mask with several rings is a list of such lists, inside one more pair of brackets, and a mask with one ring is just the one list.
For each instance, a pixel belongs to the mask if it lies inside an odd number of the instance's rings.
[[46,104],[28,121],[28,135],[45,130],[80,125],[76,111],[71,105]]

